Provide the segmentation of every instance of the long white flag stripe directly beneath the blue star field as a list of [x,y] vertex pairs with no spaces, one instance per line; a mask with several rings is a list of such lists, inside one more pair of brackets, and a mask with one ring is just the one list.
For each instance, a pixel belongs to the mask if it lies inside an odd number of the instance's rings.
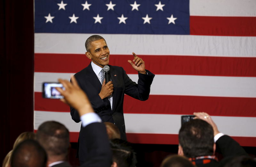
[[[93,34],[35,33],[35,53],[84,54],[84,42],[90,35]],[[110,54],[134,52],[145,55],[256,57],[256,37],[132,34],[102,36],[107,41]]]

